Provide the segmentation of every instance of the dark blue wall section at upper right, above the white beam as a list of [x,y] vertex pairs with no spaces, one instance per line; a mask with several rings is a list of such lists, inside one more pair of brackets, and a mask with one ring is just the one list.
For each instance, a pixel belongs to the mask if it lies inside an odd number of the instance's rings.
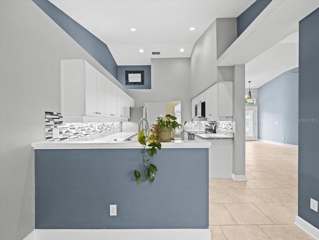
[[237,37],[245,31],[272,0],[256,0],[237,17]]

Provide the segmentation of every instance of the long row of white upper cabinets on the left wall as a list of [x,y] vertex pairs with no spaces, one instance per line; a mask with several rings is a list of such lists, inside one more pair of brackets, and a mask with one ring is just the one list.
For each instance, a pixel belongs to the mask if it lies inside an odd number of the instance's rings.
[[61,60],[61,113],[65,122],[84,121],[84,116],[91,122],[129,119],[130,107],[134,106],[133,98],[85,60]]

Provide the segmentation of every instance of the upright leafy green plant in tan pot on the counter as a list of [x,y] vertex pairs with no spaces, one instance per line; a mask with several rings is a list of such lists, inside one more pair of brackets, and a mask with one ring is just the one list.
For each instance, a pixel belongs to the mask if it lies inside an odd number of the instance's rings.
[[183,125],[176,121],[176,117],[167,114],[164,118],[158,117],[156,131],[159,133],[160,142],[170,142],[174,140],[172,130],[175,128],[182,128],[187,122],[185,121]]

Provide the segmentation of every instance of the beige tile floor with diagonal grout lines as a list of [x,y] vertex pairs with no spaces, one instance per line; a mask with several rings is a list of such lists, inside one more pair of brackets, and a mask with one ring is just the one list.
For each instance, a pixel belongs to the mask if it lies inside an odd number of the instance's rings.
[[294,225],[298,148],[246,142],[246,176],[209,180],[212,240],[313,240]]

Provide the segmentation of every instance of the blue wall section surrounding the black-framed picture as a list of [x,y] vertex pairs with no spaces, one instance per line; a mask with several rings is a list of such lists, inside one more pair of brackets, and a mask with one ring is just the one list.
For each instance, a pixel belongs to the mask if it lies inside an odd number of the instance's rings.
[[[144,71],[144,85],[125,85],[125,71]],[[127,89],[151,89],[151,65],[118,66],[118,81]]]

